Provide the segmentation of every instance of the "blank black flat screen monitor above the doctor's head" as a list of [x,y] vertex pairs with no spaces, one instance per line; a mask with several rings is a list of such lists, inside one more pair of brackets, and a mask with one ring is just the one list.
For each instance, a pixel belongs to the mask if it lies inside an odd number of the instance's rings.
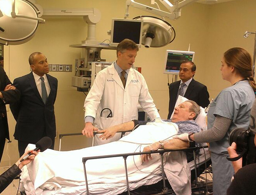
[[142,39],[143,20],[112,18],[110,46],[117,46],[124,39],[131,39],[139,46]]

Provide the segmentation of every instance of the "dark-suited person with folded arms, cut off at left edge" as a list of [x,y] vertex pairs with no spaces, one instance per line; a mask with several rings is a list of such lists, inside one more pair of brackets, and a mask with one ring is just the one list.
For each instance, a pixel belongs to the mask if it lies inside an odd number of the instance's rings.
[[12,85],[4,69],[0,67],[0,161],[4,152],[5,139],[10,141],[5,105],[14,103],[19,98],[19,90]]

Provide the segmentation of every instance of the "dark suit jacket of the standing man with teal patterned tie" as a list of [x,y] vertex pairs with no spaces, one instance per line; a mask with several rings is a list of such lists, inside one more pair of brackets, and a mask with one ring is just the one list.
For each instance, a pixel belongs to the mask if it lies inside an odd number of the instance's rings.
[[56,136],[54,103],[58,81],[49,74],[46,76],[51,89],[46,104],[38,92],[32,72],[13,81],[21,93],[20,101],[10,105],[17,122],[14,132],[16,140],[37,142],[45,133],[52,139]]

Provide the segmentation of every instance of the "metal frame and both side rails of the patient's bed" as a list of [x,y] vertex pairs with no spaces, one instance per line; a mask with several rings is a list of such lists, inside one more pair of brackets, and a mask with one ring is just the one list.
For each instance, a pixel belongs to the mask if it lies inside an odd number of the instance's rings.
[[[121,132],[121,138],[124,136],[125,131]],[[94,133],[96,134],[96,133]],[[75,135],[82,135],[82,133],[65,133],[60,134],[60,144],[59,144],[59,151],[61,151],[61,140],[63,137],[66,136],[75,136]],[[199,152],[195,152],[198,151]],[[86,183],[86,194],[91,194],[90,191],[88,191],[88,183],[87,183],[87,176],[86,176],[86,161],[93,160],[93,159],[100,159],[100,158],[113,158],[117,156],[122,156],[124,158],[124,166],[126,167],[126,158],[127,156],[133,156],[133,155],[140,155],[140,154],[147,154],[147,153],[159,153],[159,156],[161,158],[161,174],[156,176],[156,180],[154,181],[144,181],[144,183],[147,183],[148,185],[143,186],[136,186],[137,189],[130,190],[129,188],[129,179],[126,172],[126,191],[121,193],[120,195],[160,195],[160,194],[169,194],[169,195],[175,195],[174,190],[172,190],[171,185],[168,183],[168,180],[165,178],[165,175],[163,174],[163,154],[165,152],[170,152],[172,150],[163,150],[163,151],[153,151],[153,152],[137,152],[137,153],[130,153],[130,154],[118,154],[118,155],[106,155],[106,156],[95,156],[95,157],[86,157],[82,159],[83,165],[84,165],[84,175],[85,175],[85,183]],[[212,182],[211,180],[207,179],[206,177],[202,177],[203,172],[208,172],[207,168],[209,165],[211,165],[210,155],[208,151],[208,146],[204,145],[202,147],[195,147],[195,148],[189,148],[182,151],[193,151],[193,160],[188,162],[188,165],[190,167],[191,171],[191,183],[192,183],[192,193],[197,194],[212,194]],[[195,169],[195,167],[197,167]],[[127,171],[127,168],[125,168]],[[208,176],[209,177],[209,176]],[[199,181],[200,179],[203,179],[204,181]],[[159,181],[158,181],[159,180]],[[157,181],[157,182],[156,182]],[[156,183],[154,183],[156,182]],[[153,184],[151,184],[153,183]],[[134,188],[134,187],[133,187]],[[132,189],[133,189],[132,188]]]

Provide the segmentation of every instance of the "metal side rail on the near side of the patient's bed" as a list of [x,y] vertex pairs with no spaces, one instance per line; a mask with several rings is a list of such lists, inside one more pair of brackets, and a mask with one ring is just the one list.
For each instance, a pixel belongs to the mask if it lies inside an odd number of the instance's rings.
[[[113,155],[106,155],[106,156],[91,156],[91,157],[84,157],[82,158],[82,163],[84,166],[84,178],[85,178],[85,183],[86,183],[86,191],[87,195],[89,195],[89,188],[88,188],[88,180],[87,180],[87,174],[86,174],[86,166],[85,163],[88,160],[93,160],[93,159],[101,159],[101,158],[113,158],[113,157],[123,157],[124,158],[124,166],[125,166],[125,176],[126,176],[126,186],[127,186],[127,195],[130,195],[130,189],[129,189],[129,180],[128,180],[128,172],[127,172],[127,164],[126,164],[126,159],[128,156],[135,156],[135,155],[141,155],[141,154],[154,154],[154,153],[159,153],[160,159],[161,159],[161,172],[162,172],[162,179],[163,179],[163,193],[165,194],[167,192],[166,184],[165,184],[165,172],[164,172],[164,165],[163,165],[163,154],[165,152],[173,152],[173,151],[184,151],[184,152],[190,152],[193,151],[195,153],[195,150],[198,147],[192,147],[188,149],[179,149],[179,150],[159,150],[159,151],[150,151],[150,152],[134,152],[134,153],[127,153],[127,154],[113,154]],[[194,160],[194,163],[195,160]],[[196,167],[196,165],[195,165]],[[196,169],[195,169],[196,171]]]

